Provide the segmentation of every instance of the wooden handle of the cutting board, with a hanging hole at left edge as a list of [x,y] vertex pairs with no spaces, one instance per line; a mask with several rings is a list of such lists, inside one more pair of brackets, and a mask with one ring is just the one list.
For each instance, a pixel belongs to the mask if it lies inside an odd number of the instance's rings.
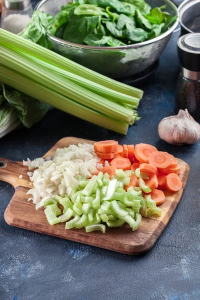
[[0,158],[0,180],[8,182],[14,187],[23,185],[18,177],[20,174],[27,176],[22,162]]

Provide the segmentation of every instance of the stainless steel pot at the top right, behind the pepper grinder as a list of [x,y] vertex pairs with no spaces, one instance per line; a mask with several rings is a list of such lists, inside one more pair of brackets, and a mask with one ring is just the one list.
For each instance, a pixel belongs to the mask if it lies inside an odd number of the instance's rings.
[[181,35],[200,32],[200,0],[185,0],[178,6]]

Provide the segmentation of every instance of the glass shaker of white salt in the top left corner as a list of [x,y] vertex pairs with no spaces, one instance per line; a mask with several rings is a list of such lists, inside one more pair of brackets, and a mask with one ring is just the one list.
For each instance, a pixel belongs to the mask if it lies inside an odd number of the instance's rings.
[[3,0],[0,26],[18,34],[29,23],[32,12],[30,0]]

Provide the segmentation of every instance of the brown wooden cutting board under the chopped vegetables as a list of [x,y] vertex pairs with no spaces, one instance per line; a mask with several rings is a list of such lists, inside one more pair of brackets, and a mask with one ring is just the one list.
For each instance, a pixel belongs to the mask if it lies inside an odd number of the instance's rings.
[[[83,142],[93,143],[91,140],[76,137],[62,138],[43,157],[51,155],[56,148],[63,148],[67,147],[69,144]],[[64,228],[65,223],[58,223],[52,226],[49,225],[43,212],[43,208],[35,210],[35,204],[31,201],[27,201],[29,195],[26,195],[26,192],[30,188],[27,167],[23,166],[20,161],[0,158],[0,180],[9,182],[15,188],[14,195],[4,212],[4,219],[12,226],[125,254],[135,255],[144,253],[154,245],[155,241],[166,227],[180,201],[185,187],[189,174],[189,166],[183,160],[177,160],[181,166],[180,179],[183,183],[182,188],[176,193],[164,191],[166,200],[159,206],[162,210],[162,215],[160,217],[142,217],[141,225],[136,231],[131,231],[129,225],[124,224],[121,228],[106,227],[106,233],[103,234],[100,231],[86,233],[84,228],[66,230]],[[4,164],[6,164],[5,167],[3,166]],[[22,174],[21,179],[18,178],[20,174]]]

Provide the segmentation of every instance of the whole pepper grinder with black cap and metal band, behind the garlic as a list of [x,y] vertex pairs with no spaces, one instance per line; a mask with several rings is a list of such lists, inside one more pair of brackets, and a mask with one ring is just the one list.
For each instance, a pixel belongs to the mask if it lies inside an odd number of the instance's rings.
[[177,41],[180,74],[175,91],[175,112],[188,109],[200,122],[200,33],[182,35]]

